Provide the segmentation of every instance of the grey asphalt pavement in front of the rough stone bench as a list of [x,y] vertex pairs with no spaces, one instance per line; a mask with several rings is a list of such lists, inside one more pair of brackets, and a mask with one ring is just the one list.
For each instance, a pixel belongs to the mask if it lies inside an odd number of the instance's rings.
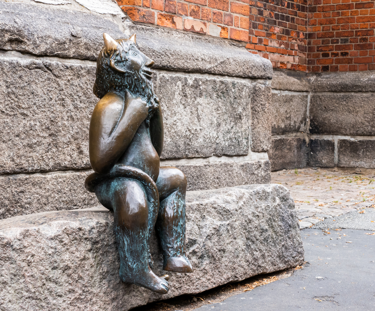
[[318,225],[301,230],[308,263],[293,276],[195,310],[374,311],[375,209]]

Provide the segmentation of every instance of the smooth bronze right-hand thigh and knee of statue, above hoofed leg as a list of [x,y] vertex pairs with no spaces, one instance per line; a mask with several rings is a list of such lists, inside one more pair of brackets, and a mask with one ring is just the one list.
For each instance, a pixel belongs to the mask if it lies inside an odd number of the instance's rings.
[[161,201],[176,190],[186,192],[186,176],[177,167],[161,166],[156,186]]

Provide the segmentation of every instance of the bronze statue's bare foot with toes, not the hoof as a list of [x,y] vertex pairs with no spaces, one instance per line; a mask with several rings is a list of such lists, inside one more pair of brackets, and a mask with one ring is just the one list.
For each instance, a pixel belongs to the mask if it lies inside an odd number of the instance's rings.
[[166,294],[169,290],[167,282],[169,276],[165,274],[159,277],[151,269],[144,272],[138,271],[135,276],[121,273],[120,270],[120,278],[123,282],[136,284],[159,294]]

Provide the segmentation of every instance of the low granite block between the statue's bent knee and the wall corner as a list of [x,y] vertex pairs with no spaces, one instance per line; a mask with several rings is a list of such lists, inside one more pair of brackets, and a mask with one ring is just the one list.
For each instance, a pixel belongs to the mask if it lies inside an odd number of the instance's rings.
[[217,189],[229,186],[269,183],[269,160],[175,165],[187,178],[187,190]]

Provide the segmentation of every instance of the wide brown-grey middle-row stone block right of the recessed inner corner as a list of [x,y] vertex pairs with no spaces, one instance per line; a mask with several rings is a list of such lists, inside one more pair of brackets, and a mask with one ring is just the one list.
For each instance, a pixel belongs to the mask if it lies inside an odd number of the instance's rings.
[[312,94],[310,133],[375,135],[374,102],[371,93]]

